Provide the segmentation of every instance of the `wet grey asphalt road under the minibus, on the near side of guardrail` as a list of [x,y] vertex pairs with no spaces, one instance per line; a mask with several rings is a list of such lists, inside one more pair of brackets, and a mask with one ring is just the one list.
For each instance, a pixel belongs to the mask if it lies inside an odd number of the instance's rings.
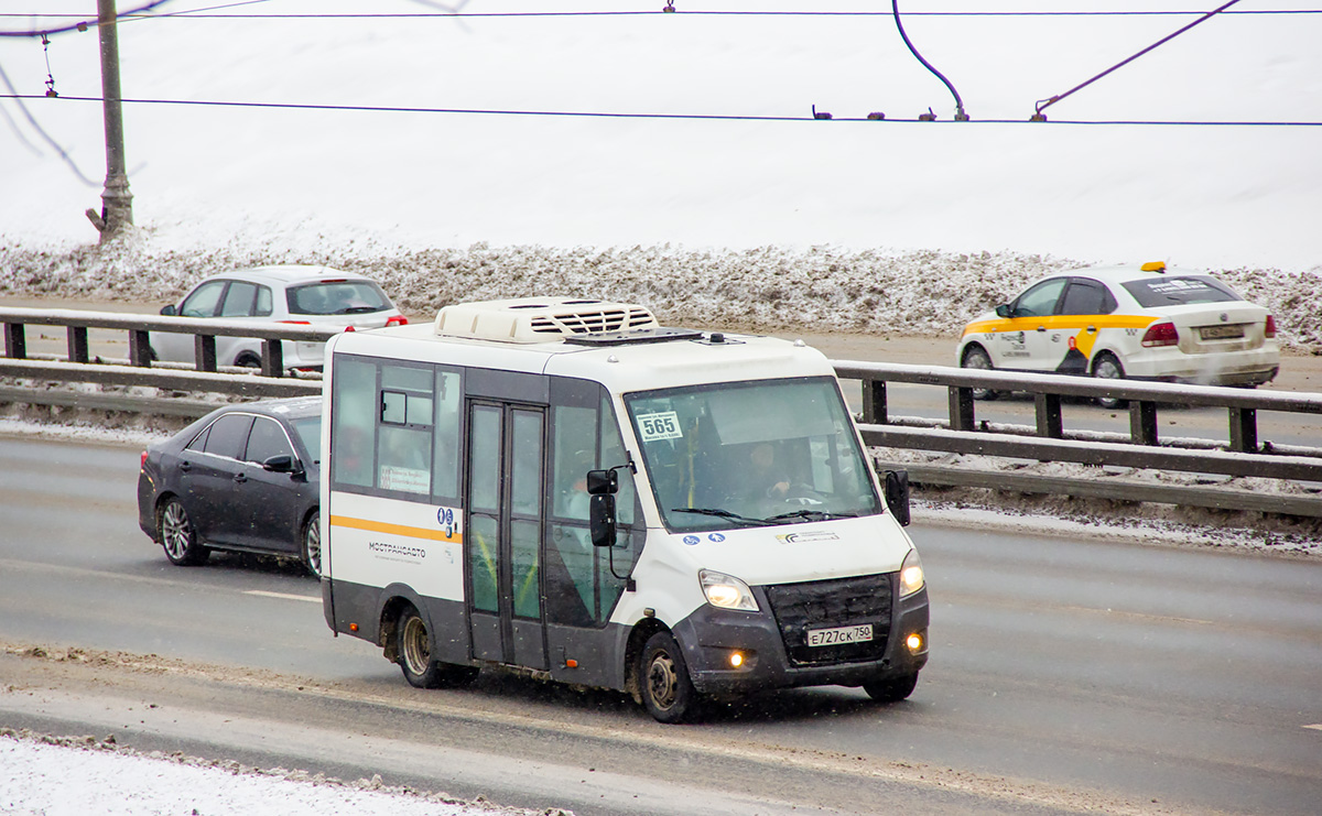
[[330,636],[297,568],[171,566],[137,529],[137,453],[0,438],[0,726],[579,816],[1322,801],[1318,560],[920,518],[932,659],[908,701],[791,691],[662,726],[620,695],[498,675],[419,692]]

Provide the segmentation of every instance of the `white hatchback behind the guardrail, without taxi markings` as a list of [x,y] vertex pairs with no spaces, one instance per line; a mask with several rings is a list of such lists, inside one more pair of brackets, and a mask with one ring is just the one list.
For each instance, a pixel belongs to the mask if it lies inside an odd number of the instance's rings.
[[[345,331],[402,326],[408,322],[386,293],[369,277],[329,267],[255,267],[213,275],[197,284],[178,305],[161,314],[200,320],[296,323]],[[152,357],[190,363],[193,335],[152,331]],[[321,368],[325,343],[283,341],[286,368]],[[260,367],[262,341],[217,337],[215,362],[221,366]]]

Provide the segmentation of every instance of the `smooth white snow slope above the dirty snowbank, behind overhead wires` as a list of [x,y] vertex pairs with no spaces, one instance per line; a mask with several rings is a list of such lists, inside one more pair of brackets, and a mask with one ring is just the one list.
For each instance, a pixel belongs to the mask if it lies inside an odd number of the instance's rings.
[[[453,0],[457,3],[459,0]],[[87,13],[86,0],[0,11]],[[120,7],[130,8],[130,0]],[[177,0],[160,11],[212,4]],[[219,13],[434,11],[407,0],[267,0]],[[468,13],[639,9],[662,0],[471,0]],[[1025,123],[1191,16],[951,17],[958,9],[1158,11],[1170,0],[908,0],[886,16],[676,15],[352,20],[171,17],[120,25],[128,98],[613,114],[657,120],[130,104],[139,224],[171,244],[275,239],[412,247],[686,247],[1042,252],[1089,263],[1322,264],[1322,128],[1125,127],[1055,120],[1322,121],[1322,15],[1223,15]],[[1206,4],[1208,8],[1214,3]],[[1233,11],[1317,7],[1245,0]],[[709,0],[701,9],[888,9],[836,0]],[[3,28],[42,25],[0,18]],[[46,24],[49,25],[49,24]],[[28,111],[78,181],[0,99],[0,234],[93,242],[104,177],[95,34],[52,38],[59,99]],[[22,94],[45,91],[36,38],[0,41]],[[810,120],[812,107],[837,120]],[[882,111],[939,123],[843,121]],[[988,119],[1013,120],[989,124]]]

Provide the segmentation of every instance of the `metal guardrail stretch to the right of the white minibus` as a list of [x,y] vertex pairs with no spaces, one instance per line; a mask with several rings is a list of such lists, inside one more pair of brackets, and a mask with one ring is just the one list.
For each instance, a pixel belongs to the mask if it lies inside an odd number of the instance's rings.
[[[1021,375],[1006,371],[973,371],[941,366],[907,366],[834,360],[843,380],[859,380],[863,391],[861,432],[863,441],[879,448],[935,450],[943,453],[1076,462],[1158,471],[1260,477],[1292,482],[1322,482],[1322,448],[1289,448],[1259,444],[1257,412],[1276,411],[1322,415],[1322,393],[1281,393],[1211,386],[1095,380],[1064,375]],[[944,426],[912,426],[891,423],[887,383],[911,383],[945,388],[949,416]],[[1034,428],[992,430],[977,421],[974,390],[1027,392],[1034,399]],[[1064,428],[1063,397],[1112,397],[1129,401],[1129,436],[1099,441],[1097,434],[1071,434]],[[1227,442],[1208,440],[1199,448],[1162,445],[1158,412],[1169,407],[1215,407],[1227,411]],[[1322,438],[1322,433],[1319,433]],[[1266,494],[1233,487],[1159,485],[1112,477],[1044,477],[1003,470],[940,465],[887,463],[904,467],[911,481],[939,486],[986,487],[1018,493],[1110,498],[1198,507],[1257,510],[1288,515],[1322,516],[1322,486],[1302,495]]]

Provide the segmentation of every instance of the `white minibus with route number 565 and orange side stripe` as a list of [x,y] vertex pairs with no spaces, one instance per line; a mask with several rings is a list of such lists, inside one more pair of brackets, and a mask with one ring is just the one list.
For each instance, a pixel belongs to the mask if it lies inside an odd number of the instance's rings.
[[928,654],[908,485],[801,342],[563,297],[327,347],[323,601],[419,688],[504,668],[662,722],[802,685],[907,697]]

